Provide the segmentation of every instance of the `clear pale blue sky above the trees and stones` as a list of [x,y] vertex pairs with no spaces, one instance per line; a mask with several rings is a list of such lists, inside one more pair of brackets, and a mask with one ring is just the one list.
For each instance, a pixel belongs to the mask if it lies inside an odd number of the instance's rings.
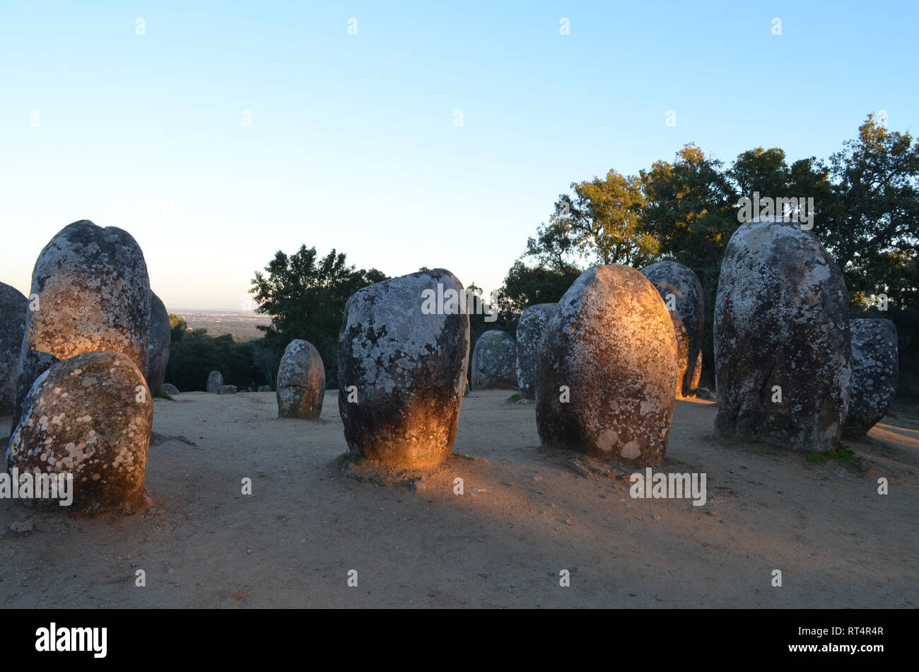
[[573,181],[919,130],[914,2],[188,5],[0,5],[0,280],[89,219],[170,308],[304,243],[494,290]]

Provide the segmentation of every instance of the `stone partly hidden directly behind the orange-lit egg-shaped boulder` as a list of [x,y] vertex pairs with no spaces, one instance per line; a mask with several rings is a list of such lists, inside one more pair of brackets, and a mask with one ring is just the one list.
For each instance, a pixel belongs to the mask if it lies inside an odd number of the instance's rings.
[[702,331],[705,299],[702,285],[692,269],[675,261],[659,261],[641,269],[661,293],[676,335],[676,396],[686,396],[698,387],[701,374]]

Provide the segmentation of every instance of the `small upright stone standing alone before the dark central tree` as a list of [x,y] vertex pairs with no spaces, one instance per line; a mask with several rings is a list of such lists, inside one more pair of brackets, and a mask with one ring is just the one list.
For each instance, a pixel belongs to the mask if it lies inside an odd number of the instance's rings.
[[325,396],[325,367],[319,350],[295,338],[278,367],[278,417],[319,417]]

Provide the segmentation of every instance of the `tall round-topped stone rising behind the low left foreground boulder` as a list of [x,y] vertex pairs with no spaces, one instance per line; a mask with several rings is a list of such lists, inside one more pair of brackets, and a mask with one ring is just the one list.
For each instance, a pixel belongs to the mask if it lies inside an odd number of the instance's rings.
[[29,292],[13,421],[32,383],[51,364],[94,350],[122,352],[147,367],[150,278],[137,241],[88,220],[65,226],[41,250]]

